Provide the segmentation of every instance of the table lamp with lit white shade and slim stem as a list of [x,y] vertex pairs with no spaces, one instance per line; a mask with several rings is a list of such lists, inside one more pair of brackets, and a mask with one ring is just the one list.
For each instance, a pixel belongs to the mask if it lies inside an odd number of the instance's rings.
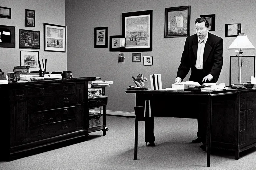
[[[236,50],[238,53],[238,81],[241,84],[241,71],[243,67],[243,50],[255,50],[255,47],[252,45],[248,37],[244,33],[240,33],[236,39],[231,43],[228,50]],[[241,64],[239,64],[239,57],[241,54]]]

